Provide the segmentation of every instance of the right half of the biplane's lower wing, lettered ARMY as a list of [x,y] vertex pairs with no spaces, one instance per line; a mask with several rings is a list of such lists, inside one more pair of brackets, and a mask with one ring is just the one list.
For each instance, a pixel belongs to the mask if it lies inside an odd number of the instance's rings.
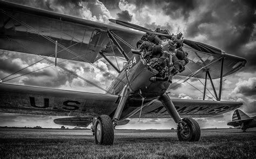
[[[177,111],[182,118],[193,117],[213,117],[231,110],[237,109],[242,105],[240,102],[210,101],[210,100],[191,100],[191,99],[172,99]],[[123,118],[139,118],[140,107]],[[156,100],[142,109],[141,118],[170,118],[169,113],[161,102]]]

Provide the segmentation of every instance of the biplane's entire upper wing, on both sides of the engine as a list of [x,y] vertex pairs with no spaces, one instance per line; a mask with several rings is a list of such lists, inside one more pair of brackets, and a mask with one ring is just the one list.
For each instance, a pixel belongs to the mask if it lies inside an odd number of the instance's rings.
[[[143,35],[112,25],[8,2],[0,2],[0,26],[0,49],[53,57],[57,41],[58,58],[83,62],[95,62],[101,57],[100,51],[113,55],[112,48],[108,47],[111,46],[107,38],[108,30],[131,46],[135,46]],[[119,44],[126,53],[130,52],[130,47],[120,41]],[[220,77],[221,60],[218,59],[224,52],[191,40],[185,40],[184,44],[184,50],[189,51],[190,62],[179,75],[205,78],[201,73],[208,70],[213,79]],[[116,46],[113,46],[113,50],[114,55],[122,57]],[[241,57],[225,54],[223,75],[234,73],[245,63],[246,60]]]

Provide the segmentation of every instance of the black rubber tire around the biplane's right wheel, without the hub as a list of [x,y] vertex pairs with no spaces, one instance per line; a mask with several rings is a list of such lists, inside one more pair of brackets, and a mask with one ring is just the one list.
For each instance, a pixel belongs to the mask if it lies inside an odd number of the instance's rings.
[[188,138],[183,138],[181,131],[178,131],[177,134],[179,141],[199,141],[201,136],[201,130],[198,122],[192,118],[183,118],[182,120],[186,122],[188,128],[190,128],[190,134]]

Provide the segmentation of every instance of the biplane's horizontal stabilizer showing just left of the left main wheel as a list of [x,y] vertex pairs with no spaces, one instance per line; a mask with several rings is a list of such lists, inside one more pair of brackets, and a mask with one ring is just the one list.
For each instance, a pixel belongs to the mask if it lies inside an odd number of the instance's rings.
[[53,120],[58,125],[78,126],[87,127],[92,122],[92,118],[84,117],[68,117],[68,118],[57,118]]

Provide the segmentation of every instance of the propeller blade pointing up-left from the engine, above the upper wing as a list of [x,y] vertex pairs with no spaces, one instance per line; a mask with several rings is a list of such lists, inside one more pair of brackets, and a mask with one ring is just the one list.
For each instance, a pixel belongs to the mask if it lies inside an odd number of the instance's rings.
[[147,29],[145,27],[138,26],[138,25],[135,25],[135,24],[131,24],[131,23],[128,23],[128,22],[125,22],[125,21],[116,20],[116,19],[109,19],[109,21],[111,21],[112,23],[116,23],[116,24],[122,25],[122,26],[133,28],[133,29],[138,30],[138,31],[143,31],[143,32],[150,33],[150,34],[164,36],[164,37],[169,38],[169,39],[172,38],[172,36],[169,35],[169,34],[157,33],[157,32],[151,31],[151,30],[149,30],[149,29]]

